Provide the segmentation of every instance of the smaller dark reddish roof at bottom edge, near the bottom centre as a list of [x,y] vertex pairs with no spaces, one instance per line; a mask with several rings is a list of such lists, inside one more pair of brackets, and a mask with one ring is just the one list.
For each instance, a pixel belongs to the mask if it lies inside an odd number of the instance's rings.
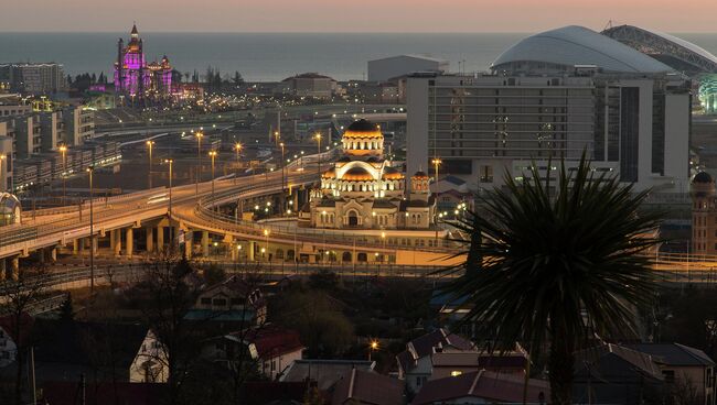
[[352,369],[336,382],[331,405],[403,405],[404,381]]

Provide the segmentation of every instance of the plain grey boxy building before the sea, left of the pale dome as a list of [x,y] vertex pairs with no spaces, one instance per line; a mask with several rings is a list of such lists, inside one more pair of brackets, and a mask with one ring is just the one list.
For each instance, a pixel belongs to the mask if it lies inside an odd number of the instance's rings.
[[446,73],[448,61],[426,55],[398,55],[368,61],[368,81],[388,81],[415,72]]

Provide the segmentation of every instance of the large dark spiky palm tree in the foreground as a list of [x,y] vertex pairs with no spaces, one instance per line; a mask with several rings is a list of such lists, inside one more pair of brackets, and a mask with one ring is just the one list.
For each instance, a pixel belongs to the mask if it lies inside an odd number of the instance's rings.
[[646,191],[596,176],[585,154],[575,171],[561,164],[541,180],[533,165],[531,175],[506,175],[506,187],[483,198],[485,212],[461,220],[472,236],[469,260],[446,270],[461,272],[448,291],[468,298],[463,321],[481,327],[495,350],[516,341],[536,354],[549,347],[552,403],[569,404],[575,351],[634,331],[633,306],[653,297],[643,253],[657,243],[649,236],[660,215],[638,212]]

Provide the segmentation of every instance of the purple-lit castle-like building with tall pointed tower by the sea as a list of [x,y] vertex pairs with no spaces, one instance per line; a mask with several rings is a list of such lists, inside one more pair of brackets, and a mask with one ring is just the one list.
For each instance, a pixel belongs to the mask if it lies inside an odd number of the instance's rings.
[[172,94],[172,65],[167,56],[161,62],[147,63],[137,25],[132,26],[127,46],[117,42],[115,63],[115,91],[118,96],[143,99],[165,97]]

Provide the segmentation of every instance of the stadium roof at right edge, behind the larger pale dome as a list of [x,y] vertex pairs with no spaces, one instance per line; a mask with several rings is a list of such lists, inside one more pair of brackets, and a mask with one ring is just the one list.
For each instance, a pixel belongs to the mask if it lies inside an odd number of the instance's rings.
[[674,35],[634,25],[611,26],[602,31],[602,34],[664,62],[676,70],[717,73],[717,56]]

